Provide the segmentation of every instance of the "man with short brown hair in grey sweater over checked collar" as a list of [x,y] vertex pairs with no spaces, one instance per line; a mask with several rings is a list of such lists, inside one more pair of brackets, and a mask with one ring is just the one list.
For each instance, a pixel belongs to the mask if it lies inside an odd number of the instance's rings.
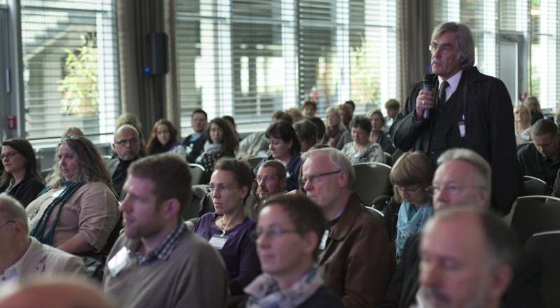
[[102,283],[117,307],[225,306],[228,272],[222,258],[181,222],[190,179],[188,165],[176,155],[148,156],[130,165],[120,204],[125,229],[109,254]]

